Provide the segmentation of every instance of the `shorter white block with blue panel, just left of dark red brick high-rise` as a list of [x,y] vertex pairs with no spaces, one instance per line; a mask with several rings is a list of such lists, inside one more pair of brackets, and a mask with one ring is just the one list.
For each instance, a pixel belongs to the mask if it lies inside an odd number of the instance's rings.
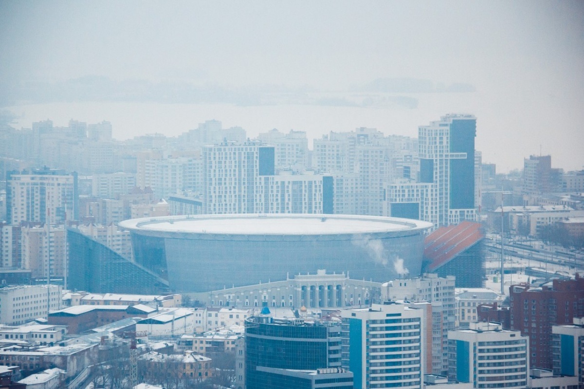
[[526,388],[529,345],[519,331],[499,323],[476,322],[468,329],[450,331],[450,381],[472,383],[473,388]]

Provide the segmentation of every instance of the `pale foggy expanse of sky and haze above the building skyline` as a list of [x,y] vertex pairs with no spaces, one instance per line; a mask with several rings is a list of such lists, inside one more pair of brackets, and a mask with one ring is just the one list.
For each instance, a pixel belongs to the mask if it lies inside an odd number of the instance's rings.
[[114,138],[208,119],[415,136],[475,114],[499,171],[531,154],[581,169],[582,2],[0,4],[0,105],[15,126],[112,122]]

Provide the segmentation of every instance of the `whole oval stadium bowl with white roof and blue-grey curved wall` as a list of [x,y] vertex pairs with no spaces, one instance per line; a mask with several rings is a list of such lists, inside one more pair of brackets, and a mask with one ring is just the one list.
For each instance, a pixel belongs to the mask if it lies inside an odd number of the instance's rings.
[[419,220],[329,214],[233,214],[126,220],[135,262],[176,292],[346,272],[384,282],[418,275],[424,232]]

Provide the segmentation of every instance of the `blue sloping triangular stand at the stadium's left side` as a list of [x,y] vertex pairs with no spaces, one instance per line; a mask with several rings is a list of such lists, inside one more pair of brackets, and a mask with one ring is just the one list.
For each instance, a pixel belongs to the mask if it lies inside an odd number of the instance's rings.
[[68,288],[92,293],[155,294],[168,282],[74,228],[67,229]]

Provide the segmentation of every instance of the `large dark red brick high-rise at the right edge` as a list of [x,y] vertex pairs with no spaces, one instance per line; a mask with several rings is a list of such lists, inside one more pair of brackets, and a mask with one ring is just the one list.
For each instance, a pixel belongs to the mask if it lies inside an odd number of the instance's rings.
[[553,325],[584,316],[584,278],[510,287],[510,329],[529,337],[530,367],[552,369]]

